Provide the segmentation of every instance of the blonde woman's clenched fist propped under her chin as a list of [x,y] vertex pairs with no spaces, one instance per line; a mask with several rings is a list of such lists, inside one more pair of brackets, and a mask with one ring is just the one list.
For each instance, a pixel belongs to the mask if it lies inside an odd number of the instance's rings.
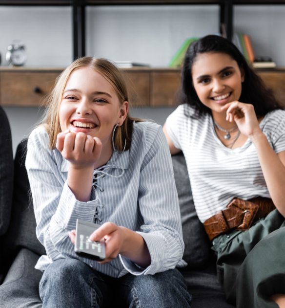
[[60,132],[56,146],[61,155],[70,161],[73,168],[93,166],[102,151],[101,140],[83,132]]

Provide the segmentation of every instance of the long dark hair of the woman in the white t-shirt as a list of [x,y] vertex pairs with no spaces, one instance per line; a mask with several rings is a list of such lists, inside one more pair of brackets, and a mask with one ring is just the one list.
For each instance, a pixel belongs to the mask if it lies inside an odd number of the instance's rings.
[[265,88],[262,79],[248,66],[244,56],[239,49],[227,39],[217,35],[207,35],[190,44],[186,51],[183,69],[182,85],[179,95],[181,104],[187,103],[194,108],[194,118],[200,118],[205,113],[211,113],[198,98],[192,80],[192,66],[197,55],[204,52],[222,52],[228,54],[235,60],[241,70],[244,70],[244,82],[240,101],[252,104],[257,116],[264,116],[267,112],[284,109],[275,99],[271,91]]

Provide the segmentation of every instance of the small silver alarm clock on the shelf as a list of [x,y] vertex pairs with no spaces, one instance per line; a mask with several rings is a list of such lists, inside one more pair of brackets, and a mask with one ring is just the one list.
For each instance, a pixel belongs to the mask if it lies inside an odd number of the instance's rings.
[[27,61],[26,46],[20,40],[14,40],[7,47],[6,61],[9,66],[23,66]]

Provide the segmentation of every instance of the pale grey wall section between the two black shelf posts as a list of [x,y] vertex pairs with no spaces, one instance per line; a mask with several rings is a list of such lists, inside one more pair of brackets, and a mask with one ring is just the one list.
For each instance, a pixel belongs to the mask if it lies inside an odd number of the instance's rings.
[[167,67],[184,40],[219,32],[218,5],[88,7],[87,54]]

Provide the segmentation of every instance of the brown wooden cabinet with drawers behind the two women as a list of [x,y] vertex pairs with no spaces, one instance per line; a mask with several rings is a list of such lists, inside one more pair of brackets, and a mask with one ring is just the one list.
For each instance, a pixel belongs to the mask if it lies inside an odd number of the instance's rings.
[[[62,69],[0,68],[0,104],[40,106]],[[131,106],[176,106],[180,88],[179,69],[124,69]],[[257,70],[276,98],[285,106],[285,69]]]

